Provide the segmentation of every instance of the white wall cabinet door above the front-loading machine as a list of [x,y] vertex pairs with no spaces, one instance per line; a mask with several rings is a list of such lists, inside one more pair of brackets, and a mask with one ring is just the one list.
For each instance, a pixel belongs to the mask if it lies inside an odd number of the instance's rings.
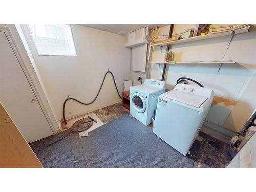
[[132,71],[146,71],[147,44],[132,48]]

